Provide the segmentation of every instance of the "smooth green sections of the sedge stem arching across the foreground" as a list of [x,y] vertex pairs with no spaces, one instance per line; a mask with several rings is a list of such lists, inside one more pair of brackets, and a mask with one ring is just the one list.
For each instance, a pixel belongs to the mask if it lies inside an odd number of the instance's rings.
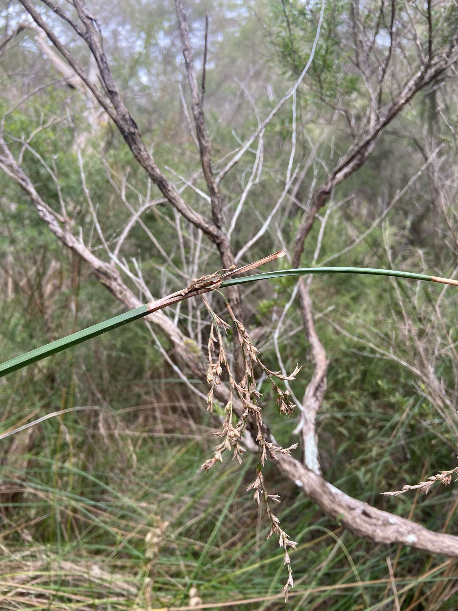
[[[453,284],[458,286],[457,280],[449,280],[436,276],[426,276],[426,274],[414,274],[408,271],[396,271],[394,269],[322,267],[282,269],[281,271],[270,271],[264,274],[255,274],[253,276],[245,276],[242,278],[231,278],[229,280],[224,280],[221,287],[231,287],[236,284],[258,282],[259,280],[269,280],[272,278],[287,276],[305,276],[307,274],[369,274],[373,276],[391,276],[408,278],[412,280],[427,280],[429,282],[440,282],[441,284]],[[186,296],[183,296],[183,299],[186,299]],[[162,307],[165,307],[166,305],[167,304],[164,304]],[[106,320],[103,323],[94,324],[92,327],[87,327],[87,329],[82,329],[81,331],[67,335],[67,337],[62,337],[62,339],[56,340],[56,342],[51,342],[45,346],[41,346],[41,348],[35,348],[30,352],[16,356],[14,359],[7,360],[7,362],[0,365],[0,378],[8,373],[12,373],[18,369],[27,367],[27,365],[30,365],[37,360],[45,359],[52,354],[62,352],[62,350],[67,350],[67,348],[71,348],[72,346],[76,346],[81,342],[85,342],[92,337],[96,337],[96,335],[101,335],[107,331],[116,329],[116,327],[120,327],[123,324],[131,323],[133,320],[147,316],[152,309],[152,304],[140,305],[140,307],[137,307],[134,310],[129,310],[129,312],[125,312],[119,316],[109,318],[109,320]],[[161,306],[156,307],[155,309],[161,309]]]

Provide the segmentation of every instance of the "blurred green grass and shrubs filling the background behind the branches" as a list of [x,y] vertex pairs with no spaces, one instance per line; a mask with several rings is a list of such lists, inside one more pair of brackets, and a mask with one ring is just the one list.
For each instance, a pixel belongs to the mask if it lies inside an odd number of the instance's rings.
[[[42,10],[40,2],[35,4]],[[375,1],[360,7],[363,31],[374,29],[379,7]],[[205,112],[213,160],[222,167],[218,160],[252,133],[257,116],[265,117],[302,71],[321,3],[188,0],[187,8],[198,73],[204,18],[209,16]],[[170,180],[186,188],[181,177],[192,176],[200,165],[180,95],[182,87],[189,106],[173,2],[98,0],[91,9],[123,99],[148,148]],[[294,197],[285,198],[242,262],[278,250],[284,245],[279,236],[290,243],[301,208],[352,142],[345,112],[364,116],[369,94],[354,66],[351,10],[354,3],[340,0],[325,7],[314,60],[297,92],[294,161],[300,170],[308,166]],[[418,19],[424,42],[423,3],[410,3],[404,10],[399,38],[410,15]],[[456,14],[452,2],[434,6],[438,48],[456,33]],[[0,2],[5,36],[24,18],[20,4]],[[65,44],[89,70],[87,49],[54,19]],[[382,58],[389,46],[386,32],[380,28],[374,38]],[[393,82],[407,79],[416,54],[415,40],[406,37],[399,43]],[[10,148],[16,156],[23,149],[24,171],[43,200],[57,211],[64,200],[75,235],[84,236],[103,258],[78,152],[109,245],[132,211],[159,192],[148,184],[112,123],[99,114],[95,129],[88,120],[92,109],[87,98],[60,79],[34,35],[18,35],[0,59],[0,114]],[[451,70],[394,119],[363,167],[333,192],[325,225],[316,222],[305,242],[302,265],[311,265],[322,226],[317,265],[392,266],[453,275],[458,256],[456,91]],[[234,252],[260,229],[285,188],[292,134],[287,103],[265,130],[262,172],[231,236]],[[222,185],[227,225],[252,173],[256,148],[253,144]],[[205,191],[202,178],[194,185]],[[209,214],[208,202],[194,189],[186,188],[186,201]],[[4,173],[0,214],[1,361],[122,312],[122,305],[64,249]],[[216,250],[183,221],[184,252],[180,249],[179,221],[167,203],[151,207],[142,221],[144,226],[133,225],[118,257],[133,271],[135,259],[154,296],[183,288],[186,276],[220,268]],[[139,293],[128,275],[125,282]],[[242,290],[245,322],[264,362],[276,370],[272,335],[294,281],[247,287]],[[456,411],[443,414],[443,406],[427,392],[426,378],[415,373],[424,358],[424,367],[429,364],[449,389],[453,408],[454,291],[450,287],[443,294],[439,315],[441,288],[435,285],[357,276],[316,277],[311,285],[317,331],[330,359],[317,417],[326,479],[357,499],[448,533],[457,527],[453,485],[437,485],[427,496],[413,491],[383,497],[380,492],[456,466]],[[200,304],[188,309],[184,302],[170,315],[205,349],[209,321]],[[421,350],[412,341],[406,316]],[[294,393],[302,396],[313,364],[296,302],[283,323],[280,352],[287,368],[302,365],[292,383]],[[213,452],[219,424],[203,409],[205,398],[190,386],[206,393],[198,380],[184,383],[167,337],[156,330],[154,338],[142,321],[0,381],[2,431],[60,409],[98,408],[46,420],[0,442],[1,609],[146,610],[188,606],[190,601],[216,609],[218,602],[256,598],[263,600],[230,608],[285,608],[278,597],[284,582],[282,554],[272,539],[266,540],[263,507],[245,492],[255,459],[248,456],[242,467],[227,460],[224,467],[200,472]],[[275,437],[289,445],[296,418],[277,416],[266,381],[261,392],[265,419]],[[453,560],[368,543],[325,517],[274,467],[268,466],[266,478],[269,490],[282,498],[282,526],[298,542],[291,552],[292,593],[305,593],[291,598],[288,609],[395,609],[388,555],[402,609],[456,609]],[[191,585],[197,591],[190,598]]]

